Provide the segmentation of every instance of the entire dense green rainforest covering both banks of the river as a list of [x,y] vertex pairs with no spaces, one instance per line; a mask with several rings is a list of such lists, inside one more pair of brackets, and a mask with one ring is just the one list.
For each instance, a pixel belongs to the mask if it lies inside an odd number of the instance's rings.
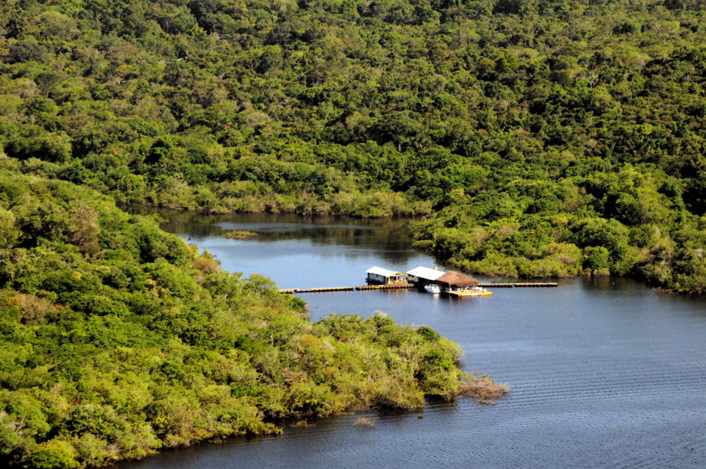
[[[706,290],[700,0],[6,0],[0,452],[36,468],[452,398],[124,204],[414,218],[469,273]],[[361,379],[365,376],[366,379]]]

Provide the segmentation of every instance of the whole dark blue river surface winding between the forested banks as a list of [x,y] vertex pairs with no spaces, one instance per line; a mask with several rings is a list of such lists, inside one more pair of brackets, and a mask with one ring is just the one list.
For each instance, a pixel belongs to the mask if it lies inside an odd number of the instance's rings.
[[[170,216],[164,227],[222,267],[287,287],[364,285],[365,271],[433,266],[391,221]],[[251,230],[246,241],[225,230]],[[443,267],[443,266],[441,266]],[[481,281],[502,281],[481,278]],[[448,299],[417,291],[300,295],[312,320],[384,311],[465,350],[467,372],[510,384],[495,405],[462,398],[401,415],[344,415],[280,437],[167,451],[123,469],[704,468],[706,302],[618,278],[558,280]],[[423,416],[424,418],[420,418]]]

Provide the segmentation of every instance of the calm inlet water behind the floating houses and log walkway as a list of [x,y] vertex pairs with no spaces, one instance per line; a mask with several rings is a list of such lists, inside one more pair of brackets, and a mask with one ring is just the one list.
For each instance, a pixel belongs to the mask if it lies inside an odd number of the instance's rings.
[[[282,288],[364,285],[376,263],[406,271],[433,261],[412,249],[407,222],[390,219],[301,218],[280,214],[198,215],[162,211],[162,227],[208,249],[228,271],[258,273]],[[248,230],[257,237],[222,237]],[[346,249],[341,249],[345,246]]]

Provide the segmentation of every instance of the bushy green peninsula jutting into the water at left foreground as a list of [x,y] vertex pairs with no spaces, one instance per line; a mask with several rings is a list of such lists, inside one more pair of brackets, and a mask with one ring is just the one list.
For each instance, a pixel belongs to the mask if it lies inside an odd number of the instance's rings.
[[[310,322],[261,275],[109,196],[0,168],[0,461],[102,466],[453,400],[459,346],[382,313]],[[489,403],[487,392],[478,395]]]

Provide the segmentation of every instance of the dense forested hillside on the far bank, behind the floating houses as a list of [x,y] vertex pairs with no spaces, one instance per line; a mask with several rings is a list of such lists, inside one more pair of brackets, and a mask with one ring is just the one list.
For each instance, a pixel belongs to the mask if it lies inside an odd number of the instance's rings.
[[428,215],[488,274],[706,287],[700,0],[8,0],[0,139],[119,201]]

